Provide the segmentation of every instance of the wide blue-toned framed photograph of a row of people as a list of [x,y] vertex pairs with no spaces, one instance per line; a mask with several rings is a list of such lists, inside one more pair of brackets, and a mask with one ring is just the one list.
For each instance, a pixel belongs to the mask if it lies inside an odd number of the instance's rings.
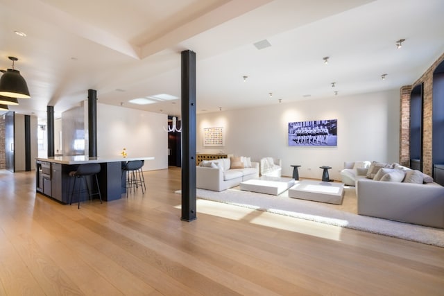
[[289,122],[289,146],[337,146],[337,119]]

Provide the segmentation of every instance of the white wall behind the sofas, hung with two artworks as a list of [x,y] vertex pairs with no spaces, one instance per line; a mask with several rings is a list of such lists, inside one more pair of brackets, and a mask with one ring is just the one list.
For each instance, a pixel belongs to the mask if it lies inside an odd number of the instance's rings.
[[[200,114],[197,120],[198,153],[232,153],[259,160],[282,159],[282,175],[291,176],[291,164],[300,164],[300,177],[321,178],[319,166],[332,166],[330,177],[340,180],[344,161],[398,162],[399,91],[357,96],[333,96],[322,100],[280,103],[266,107]],[[335,147],[288,145],[288,123],[323,119],[338,120]],[[225,146],[204,147],[203,129],[223,127]]]

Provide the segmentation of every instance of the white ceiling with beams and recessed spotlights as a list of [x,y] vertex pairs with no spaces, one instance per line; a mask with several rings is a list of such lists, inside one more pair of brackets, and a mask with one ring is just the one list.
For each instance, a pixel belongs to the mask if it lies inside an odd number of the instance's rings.
[[0,0],[0,69],[19,58],[31,99],[10,110],[42,118],[87,89],[99,103],[178,115],[180,100],[128,101],[180,97],[187,49],[198,113],[334,99],[413,83],[444,51],[443,15],[443,0]]

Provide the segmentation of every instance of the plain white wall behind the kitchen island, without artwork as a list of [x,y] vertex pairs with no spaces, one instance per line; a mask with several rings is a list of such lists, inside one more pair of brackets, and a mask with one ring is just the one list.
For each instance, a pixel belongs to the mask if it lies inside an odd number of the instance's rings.
[[168,168],[167,114],[97,104],[97,155],[153,156],[144,170]]

